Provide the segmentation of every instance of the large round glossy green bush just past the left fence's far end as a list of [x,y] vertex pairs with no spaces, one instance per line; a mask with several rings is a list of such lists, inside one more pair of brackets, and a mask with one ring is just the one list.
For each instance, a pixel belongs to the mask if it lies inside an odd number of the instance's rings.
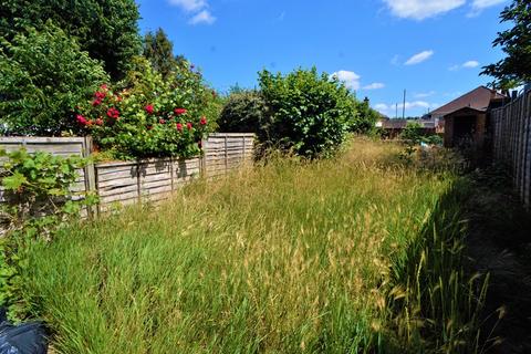
[[346,138],[357,118],[356,101],[344,84],[316,69],[285,76],[259,73],[269,108],[270,144],[306,157],[329,155]]

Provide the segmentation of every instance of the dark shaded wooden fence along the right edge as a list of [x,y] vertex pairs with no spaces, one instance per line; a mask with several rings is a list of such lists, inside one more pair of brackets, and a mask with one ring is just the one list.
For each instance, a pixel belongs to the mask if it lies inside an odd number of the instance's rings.
[[493,159],[506,165],[514,187],[531,207],[531,91],[491,112]]

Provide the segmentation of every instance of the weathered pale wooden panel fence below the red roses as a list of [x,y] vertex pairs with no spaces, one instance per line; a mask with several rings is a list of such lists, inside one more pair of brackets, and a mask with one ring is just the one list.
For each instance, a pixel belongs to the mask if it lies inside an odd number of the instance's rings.
[[[49,152],[55,155],[90,156],[90,137],[0,137],[0,148]],[[202,142],[204,155],[189,159],[152,158],[91,164],[80,170],[73,191],[95,191],[100,204],[92,212],[105,212],[115,204],[157,201],[198,178],[215,178],[249,164],[253,158],[253,134],[216,133]]]

